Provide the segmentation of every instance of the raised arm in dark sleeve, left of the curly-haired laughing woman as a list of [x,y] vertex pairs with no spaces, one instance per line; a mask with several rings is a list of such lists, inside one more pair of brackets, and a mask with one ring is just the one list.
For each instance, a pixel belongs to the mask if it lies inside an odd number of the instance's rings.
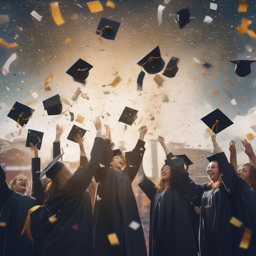
[[151,201],[155,194],[157,193],[157,188],[155,187],[155,184],[146,177],[144,170],[143,170],[143,163],[141,161],[140,168],[138,171],[138,185],[141,188],[141,190],[145,193],[146,196],[148,196],[149,200]]

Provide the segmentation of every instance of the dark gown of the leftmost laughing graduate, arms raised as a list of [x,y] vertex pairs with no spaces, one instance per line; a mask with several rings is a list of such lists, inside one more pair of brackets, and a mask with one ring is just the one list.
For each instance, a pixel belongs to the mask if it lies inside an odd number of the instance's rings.
[[[26,235],[21,236],[27,213],[30,208],[42,203],[42,184],[39,180],[40,173],[36,173],[40,166],[39,158],[32,158],[32,194],[21,195],[9,188],[5,182],[5,172],[0,167],[0,222],[5,222],[5,227],[0,227],[0,255],[1,256],[38,256],[35,250],[35,240],[30,242]],[[41,185],[40,185],[41,184]],[[38,198],[38,201],[36,200]]]

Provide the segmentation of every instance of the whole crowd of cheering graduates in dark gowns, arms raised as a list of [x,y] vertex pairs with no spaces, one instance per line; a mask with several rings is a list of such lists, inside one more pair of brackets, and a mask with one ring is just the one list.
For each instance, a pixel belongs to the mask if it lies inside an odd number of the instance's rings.
[[31,195],[26,194],[28,177],[19,174],[8,185],[0,168],[0,256],[148,255],[132,190],[136,176],[151,201],[149,256],[256,254],[256,156],[247,140],[242,144],[248,163],[237,168],[235,141],[228,160],[212,132],[209,182],[195,184],[187,171],[192,162],[174,155],[159,136],[166,160],[154,184],[142,164],[146,126],[138,129],[135,148],[124,156],[113,150],[108,126],[108,138],[102,138],[99,117],[94,126],[90,160],[82,136],[74,137],[80,146],[74,174],[60,160],[61,126],[56,126],[53,160],[42,171],[37,145],[30,143],[35,154]]

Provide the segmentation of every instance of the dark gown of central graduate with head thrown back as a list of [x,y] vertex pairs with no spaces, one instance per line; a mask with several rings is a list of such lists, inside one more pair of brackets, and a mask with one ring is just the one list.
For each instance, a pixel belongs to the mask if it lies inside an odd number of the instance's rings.
[[[132,181],[137,175],[145,151],[144,141],[126,152],[126,168],[122,172],[105,166],[94,176],[99,182],[93,208],[94,256],[146,256],[146,244]],[[112,153],[112,152],[111,152]],[[110,154],[111,156],[112,154]],[[140,224],[137,230],[129,228],[132,221]],[[111,246],[107,235],[115,233],[119,245]]]

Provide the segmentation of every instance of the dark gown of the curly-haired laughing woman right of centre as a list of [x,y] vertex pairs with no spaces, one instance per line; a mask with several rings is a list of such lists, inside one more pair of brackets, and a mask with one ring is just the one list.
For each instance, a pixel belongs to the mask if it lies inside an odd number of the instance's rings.
[[174,184],[162,192],[162,195],[157,193],[155,184],[145,175],[143,182],[139,183],[139,187],[151,201],[149,256],[197,256],[185,199],[188,173],[184,170],[184,160],[182,158],[171,160],[171,168]]

